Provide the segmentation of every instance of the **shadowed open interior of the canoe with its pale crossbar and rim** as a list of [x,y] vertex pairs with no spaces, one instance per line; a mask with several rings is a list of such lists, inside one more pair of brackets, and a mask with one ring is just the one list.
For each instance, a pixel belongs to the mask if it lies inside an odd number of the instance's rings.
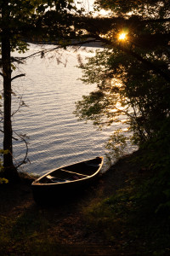
[[86,160],[71,166],[61,167],[53,172],[48,172],[47,175],[40,177],[37,179],[35,184],[71,183],[91,177],[100,169],[102,160],[102,158],[98,157],[93,160]]

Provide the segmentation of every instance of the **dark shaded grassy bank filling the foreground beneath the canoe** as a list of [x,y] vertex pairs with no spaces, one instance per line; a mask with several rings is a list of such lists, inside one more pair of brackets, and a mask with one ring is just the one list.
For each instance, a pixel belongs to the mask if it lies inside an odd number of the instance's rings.
[[156,212],[153,196],[141,196],[153,174],[135,158],[119,160],[62,205],[38,207],[28,177],[1,185],[0,254],[169,255],[169,214]]

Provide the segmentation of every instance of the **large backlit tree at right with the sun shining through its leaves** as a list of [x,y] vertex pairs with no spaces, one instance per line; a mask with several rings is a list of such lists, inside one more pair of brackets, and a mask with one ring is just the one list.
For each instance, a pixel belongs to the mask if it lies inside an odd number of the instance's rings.
[[[77,102],[77,116],[111,125],[126,114],[133,143],[157,141],[169,126],[170,3],[99,0],[96,4],[111,10],[112,16],[96,21],[100,26],[95,36],[105,49],[80,65],[82,81],[97,83],[98,90]],[[89,25],[88,31],[94,32],[94,27]]]

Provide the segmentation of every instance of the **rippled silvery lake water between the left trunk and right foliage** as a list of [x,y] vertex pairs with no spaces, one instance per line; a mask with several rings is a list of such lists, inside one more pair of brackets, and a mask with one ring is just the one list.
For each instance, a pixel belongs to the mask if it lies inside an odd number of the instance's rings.
[[[40,46],[31,44],[30,49],[26,55],[37,51]],[[82,49],[78,53],[82,59],[92,55]],[[85,85],[78,80],[82,71],[76,67],[77,52],[74,49],[60,49],[59,54],[62,55],[63,64],[58,63],[58,54],[54,53],[45,59],[28,59],[19,67],[20,73],[26,73],[26,77],[15,79],[13,83],[16,94],[13,110],[17,109],[18,96],[22,96],[28,106],[14,114],[13,128],[15,132],[29,137],[30,163],[23,167],[29,173],[43,174],[59,166],[99,155],[105,156],[105,142],[111,130],[117,128],[116,124],[98,131],[92,123],[77,120],[73,114],[75,102],[94,90],[95,85]],[[24,154],[24,143],[14,141],[15,160],[22,160]]]

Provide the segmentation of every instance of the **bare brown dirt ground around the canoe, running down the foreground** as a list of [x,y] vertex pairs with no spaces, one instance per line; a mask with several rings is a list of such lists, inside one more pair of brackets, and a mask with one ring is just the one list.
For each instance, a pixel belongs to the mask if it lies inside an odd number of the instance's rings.
[[29,177],[21,179],[20,183],[17,184],[1,186],[1,217],[10,218],[13,216],[13,218],[18,218],[23,214],[30,214],[29,216],[36,218],[38,214],[41,214],[44,223],[48,222],[48,228],[46,230],[46,224],[44,224],[43,232],[48,231],[48,236],[57,237],[60,244],[71,248],[77,247],[75,250],[77,254],[75,255],[124,255],[116,250],[116,245],[105,240],[102,232],[87,225],[83,208],[88,207],[92,201],[99,201],[113,195],[117,189],[122,189],[127,183],[130,172],[139,172],[136,170],[138,168],[133,166],[129,160],[130,157],[128,156],[119,160],[82,195],[77,195],[71,201],[55,206],[38,206],[35,203],[31,193],[32,180]]

